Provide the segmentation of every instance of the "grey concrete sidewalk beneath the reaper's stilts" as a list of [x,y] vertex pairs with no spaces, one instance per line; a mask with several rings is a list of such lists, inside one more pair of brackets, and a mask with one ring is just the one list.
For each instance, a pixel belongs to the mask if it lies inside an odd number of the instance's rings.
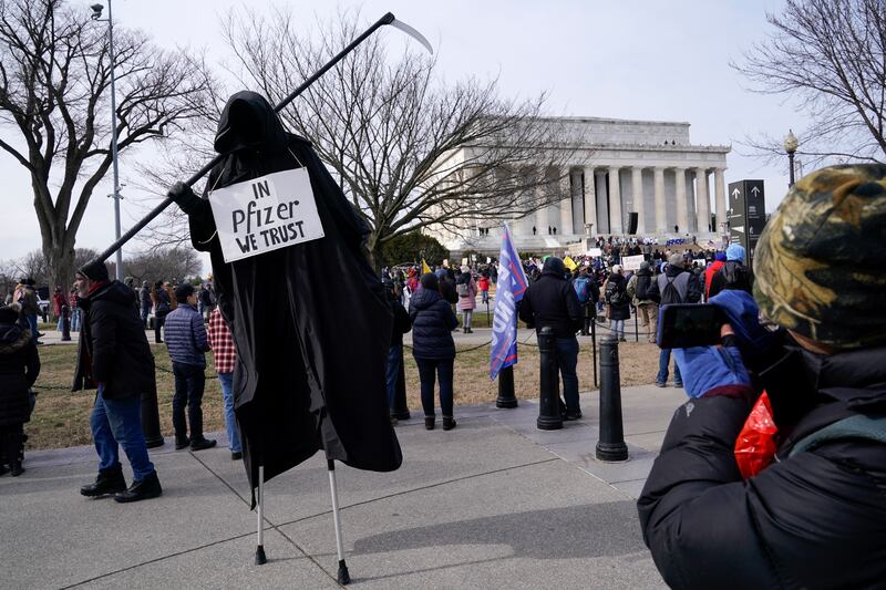
[[[635,498],[682,390],[622,392],[630,459],[594,458],[596,392],[585,418],[535,427],[538,406],[457,406],[459,427],[398,426],[403,466],[340,466],[348,566],[359,588],[661,588]],[[254,565],[255,513],[228,449],[152,453],[164,495],[86,499],[91,447],[29,452],[0,478],[3,587],[336,588],[334,534],[320,455],[266,486],[268,563]],[[128,466],[125,472],[131,473]]]

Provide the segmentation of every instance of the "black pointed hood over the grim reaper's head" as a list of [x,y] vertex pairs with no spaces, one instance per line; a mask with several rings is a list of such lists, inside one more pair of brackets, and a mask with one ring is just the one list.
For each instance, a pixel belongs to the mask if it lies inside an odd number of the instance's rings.
[[228,99],[215,134],[216,152],[229,154],[259,147],[262,152],[280,152],[286,145],[286,130],[264,96],[244,90]]

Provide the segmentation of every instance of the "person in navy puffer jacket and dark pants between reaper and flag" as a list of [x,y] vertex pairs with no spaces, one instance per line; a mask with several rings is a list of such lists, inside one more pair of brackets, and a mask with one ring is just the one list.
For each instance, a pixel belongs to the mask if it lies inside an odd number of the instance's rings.
[[440,408],[443,412],[443,429],[455,427],[453,417],[453,366],[455,364],[455,342],[452,331],[459,320],[452,307],[440,297],[440,281],[435,275],[422,276],[421,289],[409,302],[409,318],[412,320],[412,355],[419,365],[422,384],[422,407],[424,427],[434,429],[434,374],[440,377]]

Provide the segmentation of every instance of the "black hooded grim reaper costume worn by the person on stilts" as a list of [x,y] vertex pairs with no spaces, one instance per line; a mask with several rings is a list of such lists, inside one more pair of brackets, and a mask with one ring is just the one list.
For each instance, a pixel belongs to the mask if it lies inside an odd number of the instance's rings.
[[[392,319],[363,255],[365,224],[311,144],[287,133],[255,92],[228,100],[215,149],[225,157],[209,173],[206,198],[183,185],[169,196],[188,214],[194,247],[210,253],[237,348],[234,395],[251,488],[259,465],[267,480],[320,448],[359,469],[396,469],[384,380]],[[309,173],[324,237],[225,262],[213,190],[297,167]]]

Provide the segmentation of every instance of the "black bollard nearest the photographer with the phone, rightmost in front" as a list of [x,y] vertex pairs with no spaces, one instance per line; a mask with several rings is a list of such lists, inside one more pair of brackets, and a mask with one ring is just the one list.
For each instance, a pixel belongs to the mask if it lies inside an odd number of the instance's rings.
[[628,446],[621,425],[621,384],[618,372],[618,340],[600,341],[600,439],[597,458],[607,462],[628,459]]

